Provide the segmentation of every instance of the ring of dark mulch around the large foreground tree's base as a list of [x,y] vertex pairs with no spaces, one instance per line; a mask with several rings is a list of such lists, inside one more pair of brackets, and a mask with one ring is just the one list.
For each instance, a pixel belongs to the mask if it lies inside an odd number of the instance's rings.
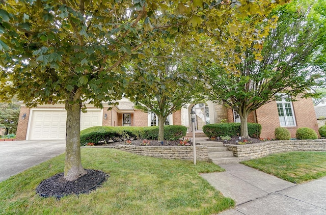
[[36,192],[41,197],[61,197],[67,195],[86,194],[95,190],[101,185],[106,177],[104,172],[99,170],[86,170],[87,174],[79,177],[75,181],[67,181],[64,179],[64,173],[59,173],[42,181],[36,188]]

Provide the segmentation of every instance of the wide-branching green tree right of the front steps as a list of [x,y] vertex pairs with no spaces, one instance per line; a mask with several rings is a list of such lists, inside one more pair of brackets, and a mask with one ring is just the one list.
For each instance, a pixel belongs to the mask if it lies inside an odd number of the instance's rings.
[[[276,28],[271,28],[275,21]],[[250,32],[250,20],[243,20],[235,34],[225,38],[225,44],[236,43],[217,53],[221,61],[207,71],[210,98],[223,101],[237,111],[241,120],[241,137],[249,138],[249,113],[286,93],[292,98],[305,94],[315,86],[320,71],[314,69],[312,57],[324,45],[317,38],[321,31],[321,17],[313,5],[300,1],[281,6],[270,15],[271,22],[255,25]]]

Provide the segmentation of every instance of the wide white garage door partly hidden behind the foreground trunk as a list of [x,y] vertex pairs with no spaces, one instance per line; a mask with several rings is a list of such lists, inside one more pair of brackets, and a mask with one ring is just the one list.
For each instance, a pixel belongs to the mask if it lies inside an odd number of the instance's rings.
[[[29,140],[65,140],[66,111],[33,110],[29,126]],[[100,110],[88,111],[80,116],[80,129],[102,125]]]

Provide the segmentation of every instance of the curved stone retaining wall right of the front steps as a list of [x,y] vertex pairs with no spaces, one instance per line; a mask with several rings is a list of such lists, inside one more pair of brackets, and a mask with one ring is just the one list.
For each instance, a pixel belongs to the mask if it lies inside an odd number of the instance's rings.
[[283,140],[246,145],[227,144],[226,146],[242,161],[288,151],[326,151],[326,140]]

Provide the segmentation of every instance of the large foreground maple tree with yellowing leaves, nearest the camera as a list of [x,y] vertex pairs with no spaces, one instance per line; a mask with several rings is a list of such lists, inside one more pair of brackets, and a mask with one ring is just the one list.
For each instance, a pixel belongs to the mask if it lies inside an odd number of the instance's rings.
[[229,13],[263,17],[262,10],[274,7],[269,0],[246,3],[243,9],[236,7],[241,5],[237,1],[201,0],[8,0],[1,4],[0,98],[17,94],[29,107],[65,103],[66,180],[86,174],[79,144],[83,103],[90,100],[102,107],[103,101],[119,99],[127,85],[122,64],[146,55],[141,47],[150,48],[150,41],[162,35],[196,35],[206,24],[216,29]]

